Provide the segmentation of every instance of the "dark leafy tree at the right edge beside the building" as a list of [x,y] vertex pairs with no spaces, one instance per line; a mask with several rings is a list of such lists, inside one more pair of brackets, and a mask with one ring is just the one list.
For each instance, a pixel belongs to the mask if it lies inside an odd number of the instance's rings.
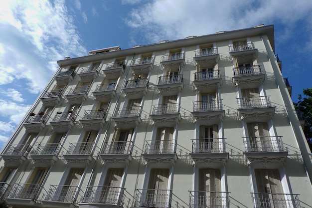
[[312,88],[304,89],[303,94],[305,97],[298,95],[298,102],[294,105],[299,119],[305,120],[304,133],[312,150]]

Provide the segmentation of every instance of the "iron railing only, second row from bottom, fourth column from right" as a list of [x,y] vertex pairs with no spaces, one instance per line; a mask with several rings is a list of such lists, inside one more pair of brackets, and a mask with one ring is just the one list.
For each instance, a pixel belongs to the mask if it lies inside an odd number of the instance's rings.
[[102,154],[131,154],[133,149],[133,141],[114,141],[105,142]]

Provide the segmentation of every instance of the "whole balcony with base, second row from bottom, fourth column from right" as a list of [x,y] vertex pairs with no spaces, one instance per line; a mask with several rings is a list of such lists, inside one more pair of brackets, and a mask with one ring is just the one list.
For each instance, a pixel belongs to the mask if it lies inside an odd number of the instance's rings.
[[104,162],[120,161],[129,162],[132,160],[133,141],[105,142],[100,156]]

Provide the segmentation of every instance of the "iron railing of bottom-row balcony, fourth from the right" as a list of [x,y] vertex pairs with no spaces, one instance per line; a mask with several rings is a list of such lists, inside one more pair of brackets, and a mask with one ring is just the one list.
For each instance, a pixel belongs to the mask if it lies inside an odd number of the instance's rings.
[[126,189],[112,186],[89,186],[81,203],[101,203],[123,206]]

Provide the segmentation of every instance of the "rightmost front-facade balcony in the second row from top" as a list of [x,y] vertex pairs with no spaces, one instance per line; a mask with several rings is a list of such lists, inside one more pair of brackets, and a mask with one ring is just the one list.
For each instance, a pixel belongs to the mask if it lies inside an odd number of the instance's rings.
[[235,85],[248,85],[248,88],[254,88],[258,87],[264,79],[265,73],[259,65],[233,68],[232,81]]

